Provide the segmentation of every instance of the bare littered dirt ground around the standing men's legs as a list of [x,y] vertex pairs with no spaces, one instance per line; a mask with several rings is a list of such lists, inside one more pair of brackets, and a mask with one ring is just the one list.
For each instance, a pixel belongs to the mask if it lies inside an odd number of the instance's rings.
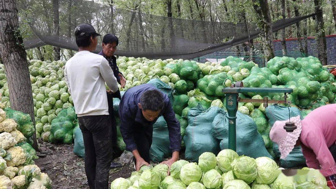
[[[74,145],[48,144],[39,141],[40,148],[47,151],[46,157],[35,160],[41,171],[52,180],[52,189],[89,189],[84,170],[84,159],[73,152]],[[119,177],[128,178],[134,171],[134,164],[125,164],[123,168],[110,170],[110,182]]]

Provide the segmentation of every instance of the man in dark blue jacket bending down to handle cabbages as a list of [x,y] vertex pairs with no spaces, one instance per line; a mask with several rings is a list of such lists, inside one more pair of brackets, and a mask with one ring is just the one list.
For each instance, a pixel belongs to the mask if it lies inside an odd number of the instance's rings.
[[167,122],[172,158],[162,163],[171,164],[178,160],[181,147],[180,123],[166,94],[150,84],[142,84],[128,89],[119,104],[120,132],[126,150],[134,155],[138,171],[149,165],[149,151],[153,140],[153,125],[160,116]]

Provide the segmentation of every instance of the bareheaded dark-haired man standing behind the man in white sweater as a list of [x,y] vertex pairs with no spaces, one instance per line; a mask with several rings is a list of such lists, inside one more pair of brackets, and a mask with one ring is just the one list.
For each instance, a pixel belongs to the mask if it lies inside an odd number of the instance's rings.
[[[119,39],[117,38],[117,36],[113,34],[106,34],[103,37],[103,41],[102,41],[103,50],[101,50],[98,54],[102,55],[104,58],[107,59],[107,61],[109,61],[109,65],[113,70],[114,76],[117,78],[117,81],[121,85],[121,88],[124,88],[126,84],[126,79],[123,76],[123,74],[119,72],[119,68],[117,65],[117,58],[114,56],[114,52],[116,51],[118,44],[119,44]],[[119,151],[117,147],[117,126],[116,126],[116,119],[115,119],[114,110],[113,110],[113,98],[121,99],[119,90],[116,93],[111,93],[110,91],[107,91],[107,100],[109,103],[109,114],[110,114],[110,118],[112,122],[112,135],[113,135],[112,136],[112,146],[113,146],[113,152],[114,152],[113,155],[116,157],[117,154],[118,153],[120,154],[121,152]],[[110,168],[114,169],[114,168],[119,168],[119,167],[121,167],[121,164],[115,163],[113,161],[111,162]]]

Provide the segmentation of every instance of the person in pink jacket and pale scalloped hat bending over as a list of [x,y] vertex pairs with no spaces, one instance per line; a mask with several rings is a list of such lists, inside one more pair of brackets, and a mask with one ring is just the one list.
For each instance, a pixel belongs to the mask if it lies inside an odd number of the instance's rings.
[[286,121],[276,121],[269,137],[279,145],[282,159],[301,145],[309,168],[319,169],[327,178],[328,186],[336,188],[336,104],[321,106],[311,111],[302,121],[300,116],[291,117],[297,129],[286,132]]

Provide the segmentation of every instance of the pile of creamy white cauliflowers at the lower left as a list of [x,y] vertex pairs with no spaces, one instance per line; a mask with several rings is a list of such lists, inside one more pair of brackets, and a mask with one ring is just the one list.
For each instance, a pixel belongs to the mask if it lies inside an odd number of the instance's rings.
[[6,119],[1,94],[0,107],[0,189],[50,189],[48,175],[33,164],[35,150],[29,149],[26,137],[16,129],[16,122]]

